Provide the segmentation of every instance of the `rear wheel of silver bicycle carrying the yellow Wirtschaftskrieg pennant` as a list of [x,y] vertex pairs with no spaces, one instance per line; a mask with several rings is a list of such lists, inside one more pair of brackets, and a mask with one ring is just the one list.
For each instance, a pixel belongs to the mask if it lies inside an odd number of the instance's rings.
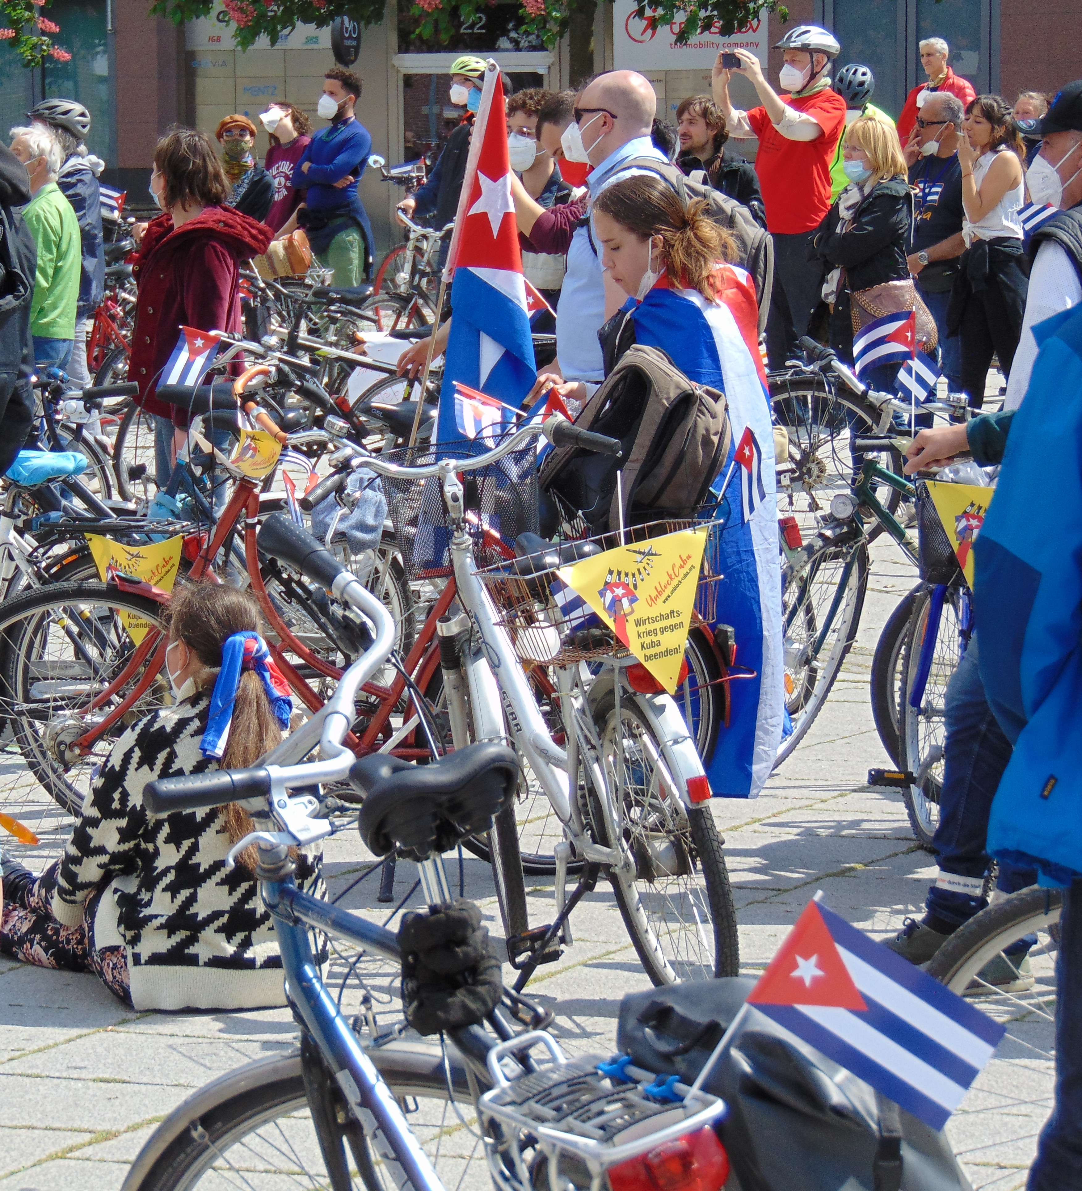
[[[620,703],[624,768],[622,822],[626,825],[620,847],[630,853],[629,867],[634,872],[628,872],[623,865],[609,866],[605,875],[612,885],[632,946],[654,985],[736,975],[736,911],[722,850],[725,841],[709,804],[684,806],[671,774],[671,769],[679,766],[676,754],[658,740],[652,716],[638,697],[621,692]],[[615,692],[608,691],[595,705],[593,718],[612,788],[617,785],[610,752],[615,715]],[[659,797],[652,797],[655,786],[667,788],[661,790]],[[590,799],[590,807],[598,842],[614,847],[596,794]],[[659,871],[663,865],[667,865],[670,872]],[[698,879],[695,878],[696,868],[701,874]],[[684,884],[670,890],[669,886],[677,881]],[[685,946],[686,955],[680,954]]]

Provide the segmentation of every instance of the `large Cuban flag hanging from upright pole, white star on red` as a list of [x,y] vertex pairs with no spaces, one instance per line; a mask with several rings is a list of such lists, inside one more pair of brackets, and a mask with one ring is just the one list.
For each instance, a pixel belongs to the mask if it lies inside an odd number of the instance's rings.
[[439,442],[461,438],[455,425],[455,381],[517,409],[537,379],[511,200],[503,85],[491,61],[447,268],[454,276],[454,318],[440,392]]

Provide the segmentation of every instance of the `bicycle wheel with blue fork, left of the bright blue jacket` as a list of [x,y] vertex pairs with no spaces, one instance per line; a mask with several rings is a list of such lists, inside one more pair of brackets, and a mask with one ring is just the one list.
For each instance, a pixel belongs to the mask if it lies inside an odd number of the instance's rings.
[[901,705],[898,709],[900,765],[916,777],[903,793],[906,813],[914,838],[932,852],[932,838],[939,825],[939,793],[943,786],[943,750],[946,742],[946,687],[959,661],[959,615],[957,600],[962,588],[947,591],[937,626],[931,672],[920,707],[909,705],[916,678],[921,644],[928,628],[932,588],[926,584],[909,617],[902,659]]

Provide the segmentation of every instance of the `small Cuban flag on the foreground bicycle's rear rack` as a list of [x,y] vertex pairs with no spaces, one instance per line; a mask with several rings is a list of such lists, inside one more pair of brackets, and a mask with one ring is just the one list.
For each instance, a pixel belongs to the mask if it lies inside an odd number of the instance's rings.
[[747,1003],[933,1129],[946,1124],[1005,1034],[817,902]]

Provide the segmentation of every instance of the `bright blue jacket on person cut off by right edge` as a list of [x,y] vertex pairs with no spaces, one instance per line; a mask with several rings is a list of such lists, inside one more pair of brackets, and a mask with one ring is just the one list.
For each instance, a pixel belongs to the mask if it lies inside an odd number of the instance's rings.
[[974,547],[981,678],[1014,744],[988,852],[1067,885],[1082,875],[1082,307],[1033,333],[1040,350]]

